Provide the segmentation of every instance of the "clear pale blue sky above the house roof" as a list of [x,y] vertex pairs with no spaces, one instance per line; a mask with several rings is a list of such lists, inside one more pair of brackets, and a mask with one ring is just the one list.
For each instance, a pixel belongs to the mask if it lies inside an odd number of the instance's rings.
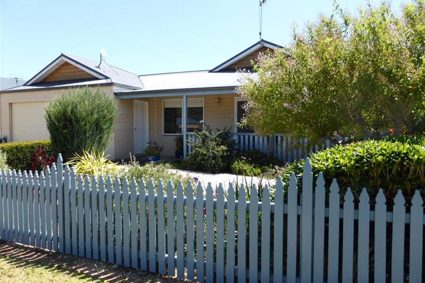
[[[332,0],[268,0],[263,38],[285,45],[294,24],[331,11]],[[205,70],[257,41],[258,0],[0,0],[2,77],[29,79],[62,52],[98,60],[102,48],[109,64],[137,74]]]

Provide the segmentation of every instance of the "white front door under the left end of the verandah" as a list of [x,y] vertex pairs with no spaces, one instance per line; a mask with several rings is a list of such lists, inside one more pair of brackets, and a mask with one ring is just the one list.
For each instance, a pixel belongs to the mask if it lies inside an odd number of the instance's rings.
[[147,101],[134,101],[134,154],[142,154],[149,141]]

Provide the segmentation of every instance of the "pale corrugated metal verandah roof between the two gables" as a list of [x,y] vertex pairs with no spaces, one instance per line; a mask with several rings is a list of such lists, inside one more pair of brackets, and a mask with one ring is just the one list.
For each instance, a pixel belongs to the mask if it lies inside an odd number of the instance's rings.
[[191,71],[178,73],[162,73],[142,75],[141,90],[122,90],[119,92],[150,92],[160,90],[197,89],[209,87],[237,87],[246,76],[257,77],[257,74],[242,74],[238,72]]

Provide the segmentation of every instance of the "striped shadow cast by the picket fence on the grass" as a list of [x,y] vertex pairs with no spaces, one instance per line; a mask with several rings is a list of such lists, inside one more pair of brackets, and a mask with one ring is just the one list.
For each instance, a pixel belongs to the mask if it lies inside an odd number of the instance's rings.
[[[100,261],[79,258],[73,255],[63,255],[58,252],[50,252],[20,244],[13,244],[6,241],[0,241],[0,258],[16,269],[31,267],[38,269],[42,268],[45,272],[60,273],[63,276],[74,277],[82,281],[164,283],[185,281],[175,277],[143,272],[140,269],[130,269]],[[59,280],[61,276],[58,275],[58,277]],[[42,280],[42,278],[32,279]]]

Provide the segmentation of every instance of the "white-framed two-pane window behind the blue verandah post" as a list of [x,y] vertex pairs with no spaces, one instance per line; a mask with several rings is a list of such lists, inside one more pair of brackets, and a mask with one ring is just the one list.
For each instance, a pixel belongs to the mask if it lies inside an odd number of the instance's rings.
[[[164,100],[164,134],[181,134],[182,129],[181,99]],[[204,99],[187,100],[187,132],[204,129]]]

